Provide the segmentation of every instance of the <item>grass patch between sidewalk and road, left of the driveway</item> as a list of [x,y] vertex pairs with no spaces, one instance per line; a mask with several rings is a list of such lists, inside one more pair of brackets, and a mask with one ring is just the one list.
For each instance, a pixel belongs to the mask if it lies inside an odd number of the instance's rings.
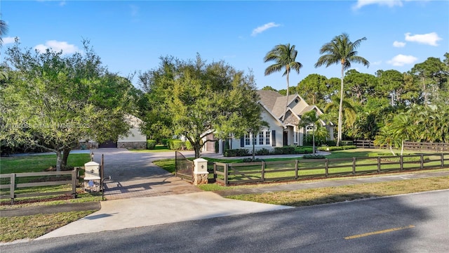
[[39,238],[41,235],[54,231],[93,212],[95,211],[0,217],[0,241],[12,242],[26,238]]

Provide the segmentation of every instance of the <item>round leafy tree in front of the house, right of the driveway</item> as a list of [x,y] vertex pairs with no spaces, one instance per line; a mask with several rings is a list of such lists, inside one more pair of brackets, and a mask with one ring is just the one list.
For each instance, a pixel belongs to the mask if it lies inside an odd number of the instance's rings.
[[[240,137],[262,124],[251,73],[222,61],[206,63],[200,56],[195,60],[163,58],[161,66],[150,73],[147,96],[160,103],[154,108],[165,108],[173,134],[187,138],[195,157],[201,156],[203,145],[214,141],[204,141],[208,134]],[[149,131],[154,131],[153,126],[154,122],[147,122]]]

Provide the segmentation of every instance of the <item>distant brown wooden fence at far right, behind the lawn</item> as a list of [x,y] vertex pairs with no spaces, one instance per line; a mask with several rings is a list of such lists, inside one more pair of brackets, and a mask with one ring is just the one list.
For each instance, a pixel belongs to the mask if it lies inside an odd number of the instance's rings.
[[[357,148],[388,148],[385,146],[376,146],[374,145],[374,141],[370,140],[354,140],[354,145]],[[417,151],[435,151],[435,152],[446,152],[449,151],[449,143],[422,143],[422,142],[413,142],[413,141],[405,141],[404,142],[405,150],[417,150]]]

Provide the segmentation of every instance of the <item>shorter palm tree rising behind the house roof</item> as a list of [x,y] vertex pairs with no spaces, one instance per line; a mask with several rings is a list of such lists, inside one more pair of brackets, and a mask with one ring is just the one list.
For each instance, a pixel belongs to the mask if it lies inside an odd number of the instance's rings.
[[264,62],[273,61],[274,64],[269,65],[265,69],[265,75],[272,74],[273,72],[279,72],[282,69],[286,69],[282,76],[287,77],[287,101],[286,101],[286,110],[283,113],[282,120],[286,118],[287,107],[288,107],[288,91],[290,88],[290,83],[288,82],[288,75],[291,70],[295,70],[298,74],[300,74],[300,68],[302,64],[296,61],[297,50],[295,49],[295,45],[290,46],[289,44],[279,44],[274,46],[274,48],[267,53],[264,57]]

